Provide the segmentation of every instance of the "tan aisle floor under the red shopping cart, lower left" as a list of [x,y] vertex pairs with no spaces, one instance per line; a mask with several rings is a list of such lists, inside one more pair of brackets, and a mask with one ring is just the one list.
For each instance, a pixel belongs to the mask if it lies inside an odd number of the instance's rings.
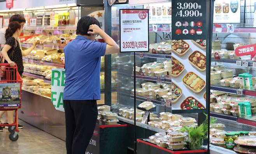
[[19,120],[23,129],[16,142],[9,140],[9,132],[0,132],[0,154],[65,154],[65,142],[28,123]]

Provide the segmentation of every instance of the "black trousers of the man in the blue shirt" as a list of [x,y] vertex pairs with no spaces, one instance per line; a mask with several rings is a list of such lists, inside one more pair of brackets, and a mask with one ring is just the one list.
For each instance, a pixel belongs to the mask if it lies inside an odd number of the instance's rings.
[[85,154],[97,121],[96,100],[64,100],[63,103],[67,154]]

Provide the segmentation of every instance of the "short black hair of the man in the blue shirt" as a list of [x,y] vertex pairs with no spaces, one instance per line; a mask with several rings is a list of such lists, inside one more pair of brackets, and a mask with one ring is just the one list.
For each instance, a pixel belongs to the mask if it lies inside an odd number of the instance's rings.
[[81,19],[79,19],[77,23],[76,34],[90,36],[91,34],[88,34],[88,29],[89,29],[89,26],[93,24],[96,24],[100,27],[100,22],[94,17],[90,17],[90,16],[82,17]]

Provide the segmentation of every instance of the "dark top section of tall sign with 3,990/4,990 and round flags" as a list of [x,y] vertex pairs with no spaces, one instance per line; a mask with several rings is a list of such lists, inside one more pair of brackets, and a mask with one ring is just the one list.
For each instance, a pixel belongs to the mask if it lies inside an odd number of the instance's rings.
[[172,39],[206,39],[206,1],[172,0]]

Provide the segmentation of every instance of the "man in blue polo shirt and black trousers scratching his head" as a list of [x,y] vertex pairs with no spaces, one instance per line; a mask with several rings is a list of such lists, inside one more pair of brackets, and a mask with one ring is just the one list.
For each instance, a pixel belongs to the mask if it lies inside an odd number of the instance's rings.
[[[67,154],[84,154],[95,129],[100,99],[100,57],[118,53],[119,46],[93,17],[77,23],[77,37],[64,48]],[[100,35],[105,43],[94,41]]]

